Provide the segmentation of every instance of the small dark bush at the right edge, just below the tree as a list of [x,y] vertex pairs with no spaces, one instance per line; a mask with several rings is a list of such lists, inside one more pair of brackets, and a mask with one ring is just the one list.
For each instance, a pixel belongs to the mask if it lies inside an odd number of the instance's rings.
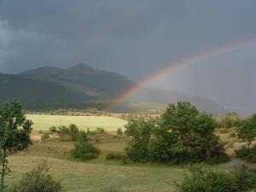
[[236,157],[241,160],[246,160],[250,163],[256,163],[256,145],[253,148],[247,148],[246,146],[241,147],[238,150],[235,150]]

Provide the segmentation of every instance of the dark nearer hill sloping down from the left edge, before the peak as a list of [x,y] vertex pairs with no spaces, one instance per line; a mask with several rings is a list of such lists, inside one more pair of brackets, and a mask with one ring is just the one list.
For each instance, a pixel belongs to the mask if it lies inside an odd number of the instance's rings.
[[0,73],[0,101],[19,100],[26,108],[65,106],[90,100],[102,100],[98,92],[78,85],[38,79],[31,76]]

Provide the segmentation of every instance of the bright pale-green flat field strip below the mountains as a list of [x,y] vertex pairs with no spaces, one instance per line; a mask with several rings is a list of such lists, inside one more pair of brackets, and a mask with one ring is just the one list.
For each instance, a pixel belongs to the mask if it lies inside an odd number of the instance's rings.
[[27,119],[32,119],[35,131],[46,131],[50,126],[76,124],[79,129],[94,130],[102,127],[106,131],[116,131],[118,128],[124,128],[126,121],[108,116],[66,116],[66,115],[43,115],[43,114],[27,114]]

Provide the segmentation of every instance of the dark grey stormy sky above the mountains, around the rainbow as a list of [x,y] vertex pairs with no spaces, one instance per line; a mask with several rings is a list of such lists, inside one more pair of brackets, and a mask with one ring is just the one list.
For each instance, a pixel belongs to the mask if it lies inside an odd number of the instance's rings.
[[[255,0],[0,0],[0,73],[91,67],[140,82],[174,61],[256,39]],[[256,44],[180,67],[148,86],[256,109]]]

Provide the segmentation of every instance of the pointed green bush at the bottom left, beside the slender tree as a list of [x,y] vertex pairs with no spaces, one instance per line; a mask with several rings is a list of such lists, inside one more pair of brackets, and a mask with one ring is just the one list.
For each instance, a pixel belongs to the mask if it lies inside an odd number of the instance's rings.
[[7,190],[8,192],[61,192],[60,181],[55,181],[49,175],[49,166],[44,161],[42,165],[36,167],[32,172],[28,172],[21,178],[20,182]]

